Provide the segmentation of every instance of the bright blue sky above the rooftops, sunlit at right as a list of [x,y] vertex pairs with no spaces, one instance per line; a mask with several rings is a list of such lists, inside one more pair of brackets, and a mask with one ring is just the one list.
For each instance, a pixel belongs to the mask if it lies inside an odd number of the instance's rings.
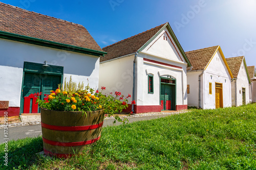
[[256,0],[0,0],[83,25],[100,47],[169,22],[185,52],[220,45],[256,65]]

